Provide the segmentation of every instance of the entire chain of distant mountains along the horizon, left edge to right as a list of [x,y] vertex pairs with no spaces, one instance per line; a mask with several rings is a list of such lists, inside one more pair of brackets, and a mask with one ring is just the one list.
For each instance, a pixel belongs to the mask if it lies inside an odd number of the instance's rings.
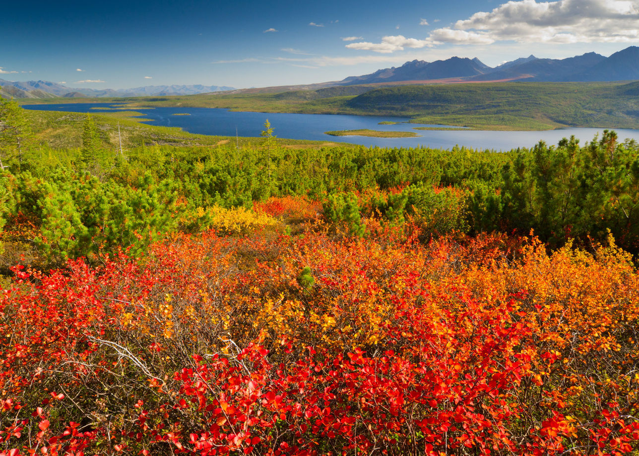
[[[196,95],[230,91],[229,93],[283,93],[307,91],[339,86],[392,86],[397,84],[426,84],[454,82],[580,82],[639,80],[639,47],[630,46],[604,57],[595,52],[566,59],[538,59],[535,56],[521,57],[491,67],[477,57],[450,57],[446,60],[426,62],[413,60],[404,65],[383,68],[374,73],[351,76],[341,81],[321,82],[305,86],[279,86],[250,89],[235,89],[226,86],[143,86],[132,89],[81,89],[66,87],[49,81],[12,82],[0,79],[0,95],[13,98],[93,98]],[[353,87],[355,90],[356,87]],[[364,89],[364,87],[360,87]],[[362,90],[356,90],[361,93]],[[346,95],[341,94],[341,95]],[[352,95],[352,94],[351,94]]]

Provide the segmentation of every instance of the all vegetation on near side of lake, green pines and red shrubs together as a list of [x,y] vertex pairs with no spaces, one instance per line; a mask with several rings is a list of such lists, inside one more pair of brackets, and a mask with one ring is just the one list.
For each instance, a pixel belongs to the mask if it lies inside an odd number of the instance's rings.
[[0,455],[639,450],[635,142],[121,149],[10,103]]

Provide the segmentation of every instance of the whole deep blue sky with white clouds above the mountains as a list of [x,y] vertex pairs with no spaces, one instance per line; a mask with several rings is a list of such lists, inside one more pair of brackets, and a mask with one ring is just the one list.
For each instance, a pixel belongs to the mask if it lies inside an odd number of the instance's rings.
[[639,45],[638,24],[639,0],[13,1],[0,15],[0,79],[310,84],[412,59],[608,56]]

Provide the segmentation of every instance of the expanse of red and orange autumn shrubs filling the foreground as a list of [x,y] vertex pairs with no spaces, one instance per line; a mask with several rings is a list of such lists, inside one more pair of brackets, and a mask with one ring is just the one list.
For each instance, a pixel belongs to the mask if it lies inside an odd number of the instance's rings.
[[639,450],[613,243],[206,232],[67,268],[0,297],[6,454]]

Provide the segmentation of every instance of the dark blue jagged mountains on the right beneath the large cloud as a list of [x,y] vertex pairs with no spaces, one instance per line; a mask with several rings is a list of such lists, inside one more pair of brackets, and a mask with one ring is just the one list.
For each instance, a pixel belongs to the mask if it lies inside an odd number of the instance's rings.
[[474,59],[450,57],[426,62],[413,60],[397,68],[351,76],[340,85],[397,82],[487,82],[487,81],[615,81],[639,79],[639,47],[631,46],[604,57],[595,52],[567,59],[516,59],[491,68]]

